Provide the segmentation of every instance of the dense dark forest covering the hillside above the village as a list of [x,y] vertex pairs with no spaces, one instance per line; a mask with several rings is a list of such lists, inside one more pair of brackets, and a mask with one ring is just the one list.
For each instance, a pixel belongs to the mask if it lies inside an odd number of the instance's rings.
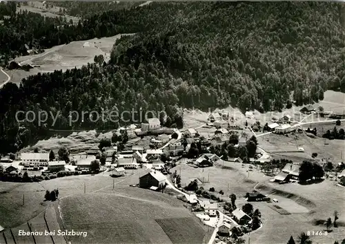
[[[345,92],[343,3],[154,2],[96,14],[59,28],[57,19],[12,15],[0,28],[8,44],[40,48],[72,40],[137,32],[115,44],[108,64],[23,79],[0,91],[0,144],[15,151],[47,129],[110,129],[112,122],[68,125],[69,111],[166,110],[237,106],[242,111],[282,110]],[[20,21],[27,17],[28,21]],[[21,23],[21,24],[19,24]],[[32,24],[27,24],[32,23]],[[8,30],[9,32],[4,32]],[[38,33],[34,32],[39,30]],[[19,35],[20,33],[20,35]],[[14,40],[13,42],[15,42]],[[18,110],[61,111],[52,126],[17,124]]]

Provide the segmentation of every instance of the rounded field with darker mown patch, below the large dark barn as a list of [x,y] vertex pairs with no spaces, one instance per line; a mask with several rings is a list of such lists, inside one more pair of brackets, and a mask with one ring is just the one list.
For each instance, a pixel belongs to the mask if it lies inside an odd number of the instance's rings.
[[[60,205],[66,229],[88,232],[87,238],[71,238],[72,243],[202,243],[205,234],[204,226],[176,198],[128,185],[64,198]],[[186,231],[179,232],[181,228]],[[170,240],[175,232],[180,236]]]

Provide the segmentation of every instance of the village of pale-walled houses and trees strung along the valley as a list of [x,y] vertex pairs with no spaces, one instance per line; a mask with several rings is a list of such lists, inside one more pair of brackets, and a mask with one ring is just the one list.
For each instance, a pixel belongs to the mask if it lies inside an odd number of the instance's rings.
[[[342,117],[333,114],[333,119],[332,113],[317,111],[311,105],[302,108],[301,114],[302,119],[284,115],[262,125],[257,121],[248,122],[253,121],[252,112],[246,112],[246,119],[241,123],[229,114],[213,112],[208,115],[206,124],[184,129],[164,128],[157,118],[152,118],[146,123],[130,124],[113,131],[111,140],[102,139],[98,147],[87,151],[75,153],[62,148],[43,152],[34,149],[3,156],[0,159],[1,180],[40,182],[84,174],[125,178],[145,169],[137,178],[137,184],[131,187],[161,193],[166,189],[175,191],[177,198],[204,225],[215,228],[208,243],[228,243],[265,225],[260,210],[254,209],[252,202],[266,203],[279,214],[289,212],[287,207],[279,207],[277,198],[263,194],[255,187],[245,194],[233,192],[228,196],[224,195],[223,189],[204,189],[201,185],[210,182],[210,171],[206,175],[204,169],[206,172],[206,169],[220,167],[226,173],[227,168],[235,168],[248,174],[248,178],[251,174],[261,173],[276,185],[296,184],[301,177],[302,160],[269,153],[259,147],[257,138],[270,134],[285,137],[289,133],[314,133],[313,129],[304,128],[311,124],[306,120],[311,116],[322,118],[321,122],[333,126],[343,121]],[[231,150],[234,152],[230,153]],[[305,150],[297,146],[291,152],[303,154]],[[339,187],[345,187],[344,163],[314,156],[310,161],[321,165],[323,173],[322,176],[307,177],[308,180],[334,180]],[[194,176],[192,173],[194,178],[186,178],[185,171],[181,172],[185,167],[201,173]]]

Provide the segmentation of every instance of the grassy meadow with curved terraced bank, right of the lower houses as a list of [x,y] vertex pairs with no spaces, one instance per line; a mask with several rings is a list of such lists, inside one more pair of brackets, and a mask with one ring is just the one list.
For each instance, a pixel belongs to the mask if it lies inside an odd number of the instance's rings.
[[[255,189],[270,198],[276,198],[278,203],[250,202],[254,209],[258,208],[262,213],[264,223],[261,229],[250,234],[250,243],[255,244],[279,244],[286,243],[290,235],[296,239],[300,232],[317,231],[324,229],[322,225],[315,225],[317,220],[326,220],[333,216],[333,212],[339,212],[339,223],[345,220],[345,212],[342,205],[345,202],[344,189],[337,187],[335,182],[324,180],[314,185],[285,184],[279,185],[270,182],[269,176],[254,170],[248,176],[248,165],[224,162],[227,169],[221,169],[223,163],[217,167],[195,169],[188,165],[178,165],[174,169],[179,173],[181,168],[182,185],[188,184],[195,177],[206,178],[206,183],[199,181],[199,187],[204,189],[215,187],[215,194],[219,190],[224,191],[224,200],[230,200],[227,196],[235,193],[237,207],[242,208],[246,203],[242,197],[246,192]],[[210,173],[209,182],[208,173]],[[229,184],[229,185],[228,185]],[[228,190],[229,189],[229,190]],[[290,214],[279,214],[270,205],[277,205]],[[328,236],[311,236],[313,243],[333,244],[334,241],[342,241],[345,238],[343,226],[333,228]],[[245,238],[248,238],[248,236]],[[248,241],[248,240],[247,240]]]

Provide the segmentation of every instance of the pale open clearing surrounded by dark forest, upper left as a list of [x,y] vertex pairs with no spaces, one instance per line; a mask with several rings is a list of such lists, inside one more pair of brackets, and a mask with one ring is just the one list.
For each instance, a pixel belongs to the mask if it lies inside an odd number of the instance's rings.
[[10,75],[11,82],[20,84],[21,79],[37,73],[53,72],[55,70],[66,71],[67,69],[75,67],[81,68],[83,65],[93,63],[95,55],[103,55],[104,60],[108,62],[112,46],[114,46],[115,41],[119,39],[121,35],[122,34],[85,41],[72,41],[66,45],[46,49],[44,53],[39,55],[17,57],[15,59],[16,62],[31,64],[35,67],[30,71],[6,70],[6,73]]

